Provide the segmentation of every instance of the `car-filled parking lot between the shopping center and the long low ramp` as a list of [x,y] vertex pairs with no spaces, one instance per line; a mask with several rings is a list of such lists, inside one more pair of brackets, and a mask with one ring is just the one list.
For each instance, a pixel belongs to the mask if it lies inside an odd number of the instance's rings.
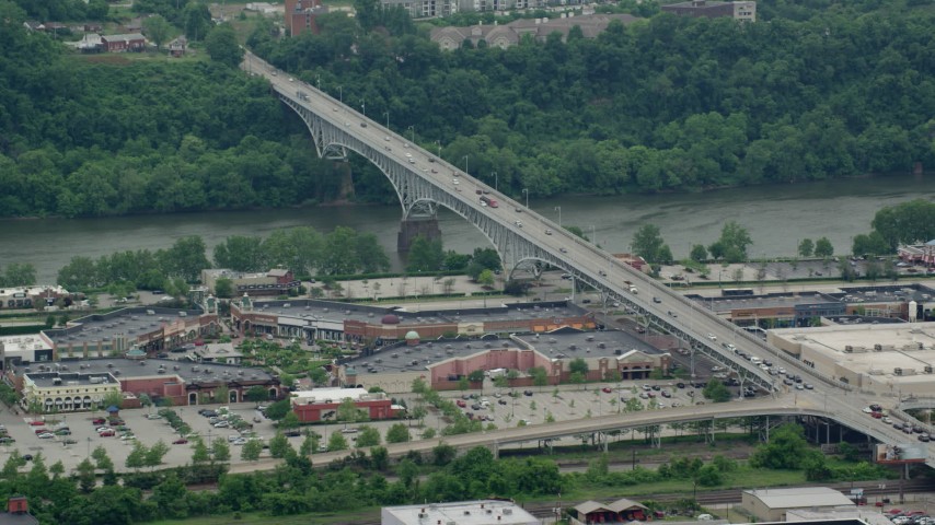
[[[693,387],[690,383],[683,383],[684,386],[680,387],[680,384],[681,382],[678,380],[646,380],[511,389],[496,388],[488,380],[482,390],[448,392],[443,396],[454,399],[459,406],[463,405],[462,411],[470,413],[472,418],[482,419],[485,425],[512,428],[521,424],[543,424],[549,421],[624,413],[628,411],[627,402],[631,404],[631,408],[637,405],[640,410],[665,410],[673,406],[705,402],[700,387]],[[731,390],[736,396],[737,389],[731,388]],[[510,395],[511,393],[512,395]],[[464,397],[466,399],[463,399]],[[414,407],[418,402],[415,395],[397,396],[397,400],[405,400],[409,407]],[[122,428],[118,427],[114,427],[115,435],[113,436],[100,435],[96,429],[102,424],[95,424],[93,421],[97,418],[106,418],[107,415],[101,410],[32,418],[4,409],[0,411],[0,424],[5,427],[9,436],[15,441],[0,444],[0,462],[5,462],[10,454],[16,450],[22,455],[42,454],[46,458],[47,465],[61,460],[66,469],[70,470],[76,468],[94,448],[103,445],[115,467],[118,470],[126,470],[126,459],[132,450],[134,440],[138,440],[146,446],[152,446],[161,440],[170,448],[163,458],[163,464],[184,465],[192,460],[194,441],[192,434],[197,434],[206,441],[218,438],[233,439],[239,435],[238,431],[231,428],[213,427],[207,417],[198,413],[198,410],[203,408],[216,410],[219,405],[173,408],[192,429],[191,434],[184,436],[176,433],[165,419],[148,419],[148,417],[155,418],[155,409],[122,410],[119,418],[124,421],[124,433],[128,431],[132,433],[134,438],[122,438],[118,431]],[[239,415],[244,421],[253,425],[251,431],[256,438],[268,442],[275,435],[276,429],[273,421],[263,417],[254,404],[236,404],[229,406],[229,408],[231,413]],[[412,425],[413,439],[418,439],[426,428],[432,428],[440,432],[448,424],[447,421],[440,419],[440,412],[429,410],[423,429],[415,427],[415,421],[407,422]],[[385,438],[389,428],[397,422],[397,420],[350,424],[332,422],[315,424],[309,429],[323,436],[322,443],[327,443],[332,433],[347,432],[348,429],[359,428],[363,424],[377,428],[381,436]],[[104,427],[108,425],[104,424]],[[36,434],[39,429],[55,431],[62,428],[68,429],[66,435],[41,439]],[[353,446],[356,435],[348,432],[345,436]],[[187,439],[188,442],[173,444],[174,441],[183,438]],[[301,435],[289,438],[296,450],[299,448],[302,440]],[[574,441],[574,439],[568,441]],[[265,456],[268,452],[264,451],[263,454]],[[231,446],[231,463],[233,465],[246,463],[240,458],[240,447],[236,445]],[[24,468],[28,468],[28,465]]]

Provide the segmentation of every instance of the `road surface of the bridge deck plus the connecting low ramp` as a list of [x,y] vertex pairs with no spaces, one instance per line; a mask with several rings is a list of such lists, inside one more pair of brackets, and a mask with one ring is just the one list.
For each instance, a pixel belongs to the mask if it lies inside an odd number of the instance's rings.
[[[382,126],[367,118],[351,107],[342,104],[328,94],[293,79],[288,73],[276,71],[268,63],[252,54],[246,55],[243,69],[252,74],[266,78],[280,97],[291,104],[313,112],[319,118],[332,126],[344,129],[347,133],[362,141],[367,147],[382,151],[384,155],[401,166],[420,176],[424,180],[442,188],[453,198],[469,205],[477,213],[496,221],[504,228],[510,229],[515,235],[543,248],[554,259],[553,262],[565,268],[575,278],[599,289],[605,301],[619,300],[636,313],[648,316],[653,323],[663,330],[677,334],[690,342],[693,348],[706,353],[712,359],[730,366],[741,378],[755,381],[760,386],[776,392],[776,376],[753,365],[747,359],[725,349],[723,343],[730,341],[748,354],[761,358],[775,355],[776,365],[799,374],[804,381],[816,384],[821,393],[799,392],[797,399],[809,405],[783,406],[780,400],[743,401],[728,405],[707,405],[703,407],[686,407],[663,412],[645,412],[627,415],[627,425],[662,424],[673,421],[692,419],[709,419],[713,417],[746,417],[761,415],[812,415],[834,419],[854,429],[865,427],[877,439],[888,443],[902,443],[907,438],[891,428],[885,429],[876,424],[867,427],[869,419],[862,408],[879,399],[862,395],[842,385],[833,378],[820,376],[812,369],[798,360],[780,352],[758,338],[738,330],[736,325],[719,319],[702,306],[670,291],[649,276],[635,270],[628,265],[621,264],[595,244],[589,243],[567,232],[549,219],[532,212],[527,207],[508,196],[496,191],[486,184],[471,177],[465,172],[445,162],[437,154],[419,148]],[[297,93],[302,92],[304,96]],[[486,194],[496,199],[496,208],[484,206],[480,194]],[[528,194],[527,194],[528,195]],[[636,287],[635,292],[632,288]],[[876,420],[873,420],[876,422]],[[506,429],[487,434],[468,434],[451,436],[446,442],[455,446],[496,446],[497,443],[516,441],[535,441],[567,435],[568,433],[600,432],[620,428],[617,417],[595,418],[584,421],[569,421],[536,425],[522,429]],[[391,450],[423,450],[428,451],[436,442],[414,442],[403,446],[391,445]],[[931,448],[930,448],[931,451]],[[342,454],[324,455],[323,459],[331,460]],[[318,459],[320,456],[315,456]],[[933,464],[930,452],[928,463]]]

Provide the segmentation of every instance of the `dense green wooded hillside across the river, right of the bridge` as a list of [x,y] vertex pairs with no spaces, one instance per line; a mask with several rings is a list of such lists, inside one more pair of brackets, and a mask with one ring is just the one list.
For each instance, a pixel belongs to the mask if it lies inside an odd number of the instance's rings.
[[472,174],[497,172],[515,195],[694,190],[935,165],[932,10],[760,3],[767,20],[755,24],[658,14],[597,39],[573,33],[567,45],[506,50],[482,43],[442,52],[415,34],[355,32],[355,22],[336,20],[320,36],[258,33],[251,44],[335,95],[342,85],[345,102],[366,101],[376,119],[389,112],[423,144],[439,140],[447,160],[463,166],[468,155]]

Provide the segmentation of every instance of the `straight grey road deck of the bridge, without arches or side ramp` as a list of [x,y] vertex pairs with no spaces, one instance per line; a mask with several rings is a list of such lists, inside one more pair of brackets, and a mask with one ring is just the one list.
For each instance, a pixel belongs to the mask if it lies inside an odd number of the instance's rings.
[[[243,69],[265,77],[280,96],[315,113],[331,125],[344,128],[368,147],[382,150],[383,154],[400,165],[445,189],[454,198],[473,207],[475,211],[509,228],[515,235],[545,249],[558,266],[577,279],[599,288],[605,294],[607,301],[619,300],[643,313],[666,319],[671,325],[678,324],[688,336],[702,342],[707,341],[708,334],[714,334],[720,340],[736,338],[736,332],[732,332],[725,322],[695,308],[694,303],[671,292],[630,265],[621,264],[595,244],[559,228],[551,220],[445,162],[437,154],[419,148],[380,122],[367,118],[365,114],[342,104],[342,101],[284,71],[275,70],[250,52],[246,56]],[[299,92],[305,96],[300,97]],[[480,199],[482,195],[497,200],[499,206],[493,208],[483,205]],[[630,283],[636,287],[636,293],[631,292]],[[654,302],[653,298],[658,298],[659,302]],[[685,319],[689,320],[688,327],[684,326]],[[744,370],[749,377],[759,378],[762,386],[772,383],[765,372],[732,353],[723,352],[719,345],[712,343],[711,350],[714,353],[723,353],[720,360],[736,370]],[[762,349],[762,353],[767,352],[767,349]]]

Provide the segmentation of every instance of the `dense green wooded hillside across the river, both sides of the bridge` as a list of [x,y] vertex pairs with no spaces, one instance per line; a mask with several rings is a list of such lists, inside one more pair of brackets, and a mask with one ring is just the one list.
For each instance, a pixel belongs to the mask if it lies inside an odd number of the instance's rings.
[[[515,196],[935,166],[928,0],[763,0],[755,24],[657,13],[597,39],[573,31],[567,44],[454,52],[427,38],[427,24],[376,5],[323,16],[316,36],[279,40],[259,24],[249,45],[452,163],[466,156],[473,175],[496,172]],[[71,55],[27,32],[26,16],[0,0],[0,217],[340,196],[345,166],[315,158],[263,81],[207,60]],[[394,198],[376,168],[350,165],[357,198]]]

